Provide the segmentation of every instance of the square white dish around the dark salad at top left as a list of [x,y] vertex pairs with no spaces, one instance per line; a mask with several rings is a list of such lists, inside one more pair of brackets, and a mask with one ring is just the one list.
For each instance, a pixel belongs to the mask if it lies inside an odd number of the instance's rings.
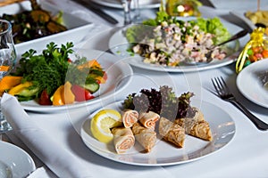
[[[57,9],[53,4],[48,4],[45,1],[41,1],[41,7],[52,14],[57,14],[60,9]],[[0,16],[3,13],[16,14],[22,11],[30,11],[29,1],[24,1],[18,4],[6,5],[0,8]],[[19,54],[25,53],[29,50],[29,47],[39,46],[40,48],[45,48],[46,44],[54,41],[57,44],[65,44],[66,42],[72,42],[74,44],[79,43],[85,36],[88,35],[90,28],[93,28],[93,24],[88,21],[82,20],[68,12],[63,12],[63,23],[68,28],[67,31],[57,33],[51,36],[45,36],[38,39],[30,40],[28,42],[23,42],[21,44],[15,44],[16,50]],[[66,37],[68,36],[68,37]]]

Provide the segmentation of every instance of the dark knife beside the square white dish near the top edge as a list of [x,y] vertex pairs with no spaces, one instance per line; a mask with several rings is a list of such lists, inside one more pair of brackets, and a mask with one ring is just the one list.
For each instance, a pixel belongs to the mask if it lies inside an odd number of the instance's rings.
[[104,12],[103,10],[101,10],[99,7],[96,7],[94,4],[92,3],[87,3],[84,2],[82,0],[77,0],[75,1],[76,3],[88,8],[88,10],[96,13],[98,16],[100,16],[101,18],[103,18],[104,20],[108,21],[109,23],[115,25],[118,22],[118,20],[115,20],[111,15],[107,14],[106,12]]

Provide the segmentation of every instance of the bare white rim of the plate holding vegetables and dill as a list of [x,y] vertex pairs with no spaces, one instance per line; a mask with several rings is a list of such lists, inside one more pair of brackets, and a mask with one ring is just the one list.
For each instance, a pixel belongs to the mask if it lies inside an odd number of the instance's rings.
[[[127,85],[130,84],[132,76],[133,76],[133,70],[130,67],[130,65],[124,61],[117,61],[118,57],[113,55],[112,53],[106,53],[106,52],[102,52],[102,51],[98,51],[98,50],[88,50],[88,49],[81,49],[80,52],[83,54],[85,52],[89,53],[89,55],[92,56],[100,56],[100,58],[104,58],[102,59],[100,62],[105,61],[108,62],[110,60],[114,60],[114,62],[110,62],[109,67],[113,66],[113,68],[115,69],[119,69],[118,71],[121,73],[120,76],[115,77],[114,74],[112,73],[112,71],[108,70],[107,74],[108,74],[108,80],[109,80],[109,76],[111,77],[111,75],[113,75],[114,78],[116,78],[119,83],[121,83],[121,80],[125,79],[125,78],[129,78],[127,80],[127,82],[123,83],[123,84],[119,84],[121,85],[121,87],[119,87],[115,92],[107,92],[105,93],[105,95],[101,95],[96,97],[93,100],[89,100],[89,101],[81,101],[81,102],[77,102],[74,104],[70,104],[70,105],[63,105],[63,106],[41,106],[38,105],[38,103],[33,104],[32,102],[36,102],[36,101],[23,101],[21,102],[21,106],[23,107],[23,109],[26,110],[30,110],[30,111],[35,111],[35,112],[59,112],[59,111],[63,111],[66,109],[77,109],[80,107],[87,107],[89,105],[93,105],[96,104],[100,101],[106,100],[107,98],[111,97],[111,95],[116,95],[117,93],[120,93],[125,87],[127,87]],[[90,60],[90,59],[88,59]],[[114,70],[112,69],[112,70]],[[110,71],[110,72],[109,72]],[[110,74],[111,73],[111,74]],[[116,81],[113,81],[116,82]],[[105,84],[101,84],[100,87],[102,88]],[[101,89],[100,89],[101,90]],[[96,92],[98,93],[98,92]]]

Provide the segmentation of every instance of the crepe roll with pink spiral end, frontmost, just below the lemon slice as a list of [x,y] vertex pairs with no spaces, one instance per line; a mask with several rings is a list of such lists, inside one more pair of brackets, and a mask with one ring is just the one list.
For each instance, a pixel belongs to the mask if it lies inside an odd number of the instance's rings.
[[112,129],[114,148],[118,154],[125,153],[135,144],[135,137],[130,128],[114,127]]

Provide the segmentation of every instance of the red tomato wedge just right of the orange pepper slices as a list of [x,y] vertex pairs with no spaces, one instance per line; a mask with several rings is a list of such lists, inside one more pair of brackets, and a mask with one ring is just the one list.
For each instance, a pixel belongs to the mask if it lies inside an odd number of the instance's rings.
[[92,93],[80,85],[72,85],[71,92],[75,95],[75,101],[88,101],[94,98]]

